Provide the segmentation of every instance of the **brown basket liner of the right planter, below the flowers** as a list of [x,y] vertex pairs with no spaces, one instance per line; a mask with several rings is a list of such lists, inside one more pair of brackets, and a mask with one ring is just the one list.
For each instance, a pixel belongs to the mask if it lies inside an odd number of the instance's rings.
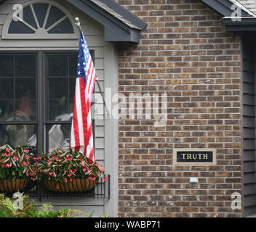
[[[57,192],[84,192],[90,191],[96,186],[97,180],[93,181],[89,178],[74,178],[73,181],[64,182],[55,182],[55,181],[44,181],[44,186],[49,191]],[[57,188],[57,185],[59,188]]]

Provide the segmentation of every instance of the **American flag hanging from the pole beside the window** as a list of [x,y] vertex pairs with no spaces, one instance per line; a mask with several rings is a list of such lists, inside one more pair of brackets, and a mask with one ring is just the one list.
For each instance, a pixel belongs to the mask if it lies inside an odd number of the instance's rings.
[[95,66],[81,31],[77,65],[75,103],[71,127],[71,149],[81,152],[92,162],[94,146],[92,135],[91,101],[96,80]]

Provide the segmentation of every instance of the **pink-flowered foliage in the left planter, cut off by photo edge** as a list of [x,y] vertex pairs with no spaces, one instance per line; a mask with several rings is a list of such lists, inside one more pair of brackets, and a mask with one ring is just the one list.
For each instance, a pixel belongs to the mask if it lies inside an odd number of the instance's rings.
[[0,180],[33,180],[36,172],[33,165],[33,154],[25,146],[12,149],[5,145],[0,147]]

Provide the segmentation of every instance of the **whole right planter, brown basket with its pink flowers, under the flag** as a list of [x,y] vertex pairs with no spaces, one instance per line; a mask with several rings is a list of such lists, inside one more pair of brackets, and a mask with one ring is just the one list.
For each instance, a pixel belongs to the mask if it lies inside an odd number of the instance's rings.
[[[56,149],[36,161],[36,176],[47,191],[75,193],[91,191],[104,175],[103,168],[84,154]],[[107,178],[101,178],[106,181]]]

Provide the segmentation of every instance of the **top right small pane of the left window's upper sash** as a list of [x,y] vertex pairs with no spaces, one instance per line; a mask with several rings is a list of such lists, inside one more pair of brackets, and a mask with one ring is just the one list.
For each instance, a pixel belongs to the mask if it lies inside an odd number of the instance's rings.
[[17,55],[15,73],[17,77],[36,77],[36,56]]

